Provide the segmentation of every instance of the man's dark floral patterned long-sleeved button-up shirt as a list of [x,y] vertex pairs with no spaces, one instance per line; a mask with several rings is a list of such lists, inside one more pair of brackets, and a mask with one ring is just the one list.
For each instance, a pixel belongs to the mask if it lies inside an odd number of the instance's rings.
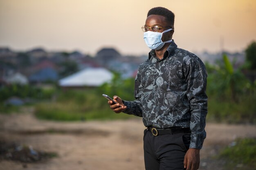
[[193,53],[171,42],[163,59],[151,50],[135,78],[135,101],[124,101],[124,113],[143,117],[146,127],[191,129],[190,148],[202,148],[206,137],[207,71]]

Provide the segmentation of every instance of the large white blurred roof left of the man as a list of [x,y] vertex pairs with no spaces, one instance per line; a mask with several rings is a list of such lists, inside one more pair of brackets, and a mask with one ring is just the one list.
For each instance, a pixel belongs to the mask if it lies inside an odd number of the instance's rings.
[[59,80],[63,87],[100,86],[110,82],[113,74],[105,68],[87,68]]

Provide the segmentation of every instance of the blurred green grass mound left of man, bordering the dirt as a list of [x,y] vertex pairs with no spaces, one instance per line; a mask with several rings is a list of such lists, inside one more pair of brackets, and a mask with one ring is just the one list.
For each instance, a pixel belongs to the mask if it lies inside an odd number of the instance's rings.
[[67,91],[60,93],[55,102],[36,104],[35,115],[40,119],[55,121],[88,121],[128,119],[132,115],[116,114],[108,101],[97,91]]

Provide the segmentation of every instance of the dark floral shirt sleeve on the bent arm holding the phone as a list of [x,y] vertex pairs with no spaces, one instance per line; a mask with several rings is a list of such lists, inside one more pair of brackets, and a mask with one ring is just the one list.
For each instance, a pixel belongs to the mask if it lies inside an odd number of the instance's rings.
[[142,117],[142,108],[141,108],[141,95],[142,95],[142,85],[141,85],[141,74],[137,72],[137,76],[135,78],[135,88],[134,88],[134,101],[123,101],[124,105],[127,106],[126,110],[123,112],[129,115],[135,115]]

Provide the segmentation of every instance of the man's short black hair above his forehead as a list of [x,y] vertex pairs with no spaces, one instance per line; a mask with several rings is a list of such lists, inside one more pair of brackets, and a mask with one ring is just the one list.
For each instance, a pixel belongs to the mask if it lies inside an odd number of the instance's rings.
[[148,11],[148,15],[161,15],[166,18],[166,22],[174,29],[174,13],[164,7],[155,7]]

